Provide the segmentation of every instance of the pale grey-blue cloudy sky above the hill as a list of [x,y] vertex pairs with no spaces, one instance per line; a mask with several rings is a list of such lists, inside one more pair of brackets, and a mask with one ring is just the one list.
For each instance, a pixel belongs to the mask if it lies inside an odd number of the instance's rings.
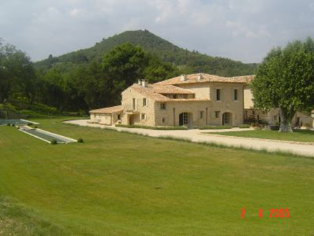
[[314,0],[0,0],[0,38],[33,61],[135,29],[260,62],[274,46],[314,37]]

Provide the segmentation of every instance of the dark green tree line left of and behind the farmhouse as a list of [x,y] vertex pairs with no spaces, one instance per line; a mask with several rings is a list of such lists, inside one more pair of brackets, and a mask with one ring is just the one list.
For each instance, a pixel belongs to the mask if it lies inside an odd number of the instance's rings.
[[138,79],[158,82],[180,73],[172,64],[130,43],[114,47],[101,60],[71,66],[71,70],[64,64],[35,69],[25,52],[1,42],[0,103],[15,98],[61,111],[87,111],[119,104],[121,91]]

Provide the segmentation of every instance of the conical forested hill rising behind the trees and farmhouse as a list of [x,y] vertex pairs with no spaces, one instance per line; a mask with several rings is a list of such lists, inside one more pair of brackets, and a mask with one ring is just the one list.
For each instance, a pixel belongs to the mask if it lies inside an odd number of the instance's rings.
[[63,54],[60,57],[48,57],[36,62],[36,68],[46,71],[54,65],[70,71],[77,64],[89,64],[89,62],[103,58],[103,54],[110,52],[115,46],[122,43],[140,45],[144,50],[155,54],[163,61],[170,62],[179,68],[182,73],[209,73],[214,75],[234,76],[251,75],[256,64],[244,64],[241,61],[233,61],[222,57],[210,57],[199,52],[184,50],[172,43],[160,38],[147,30],[125,31],[96,43],[94,47]]

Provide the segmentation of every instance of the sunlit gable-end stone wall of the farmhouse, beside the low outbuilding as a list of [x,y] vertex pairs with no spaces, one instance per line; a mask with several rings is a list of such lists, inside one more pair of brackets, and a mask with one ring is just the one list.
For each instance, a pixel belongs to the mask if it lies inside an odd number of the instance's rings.
[[[135,99],[135,109],[133,109],[133,98]],[[147,105],[143,105],[143,99],[146,98]],[[122,93],[121,101],[124,112],[121,115],[121,124],[155,126],[155,101],[139,94],[135,89],[128,88]]]

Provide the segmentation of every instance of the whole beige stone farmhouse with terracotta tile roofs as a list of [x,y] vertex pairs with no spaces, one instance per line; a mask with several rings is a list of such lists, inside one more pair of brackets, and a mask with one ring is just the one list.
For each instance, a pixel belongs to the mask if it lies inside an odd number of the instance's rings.
[[[254,75],[232,78],[204,73],[149,84],[139,80],[122,92],[121,105],[91,110],[91,123],[141,126],[237,126],[261,120],[276,124],[278,112],[253,109],[249,84]],[[298,113],[294,123],[314,126],[314,113]]]

